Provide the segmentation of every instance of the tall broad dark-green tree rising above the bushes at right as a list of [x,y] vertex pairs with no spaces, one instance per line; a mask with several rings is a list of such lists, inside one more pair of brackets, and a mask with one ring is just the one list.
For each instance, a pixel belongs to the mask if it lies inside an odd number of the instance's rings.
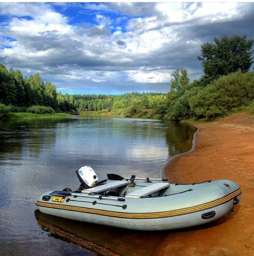
[[221,75],[250,70],[253,64],[253,39],[247,39],[247,35],[235,35],[214,38],[214,42],[201,45],[201,56],[197,56],[202,62],[206,79],[212,81]]

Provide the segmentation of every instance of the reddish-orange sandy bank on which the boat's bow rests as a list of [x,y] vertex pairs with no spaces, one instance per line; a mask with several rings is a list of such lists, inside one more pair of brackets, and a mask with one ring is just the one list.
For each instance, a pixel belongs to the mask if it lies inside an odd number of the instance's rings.
[[193,149],[172,158],[162,170],[162,177],[171,183],[233,180],[242,188],[242,200],[231,215],[207,225],[170,232],[153,255],[253,255],[254,116],[234,114],[195,126],[199,130]]

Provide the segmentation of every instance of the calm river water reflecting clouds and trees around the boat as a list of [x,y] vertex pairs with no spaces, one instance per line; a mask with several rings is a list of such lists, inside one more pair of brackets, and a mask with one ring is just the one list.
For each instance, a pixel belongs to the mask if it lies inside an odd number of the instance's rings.
[[[133,232],[48,216],[34,200],[76,190],[75,171],[159,178],[196,128],[159,120],[73,117],[0,121],[0,255],[151,255],[166,232]],[[162,177],[163,178],[163,177]]]

